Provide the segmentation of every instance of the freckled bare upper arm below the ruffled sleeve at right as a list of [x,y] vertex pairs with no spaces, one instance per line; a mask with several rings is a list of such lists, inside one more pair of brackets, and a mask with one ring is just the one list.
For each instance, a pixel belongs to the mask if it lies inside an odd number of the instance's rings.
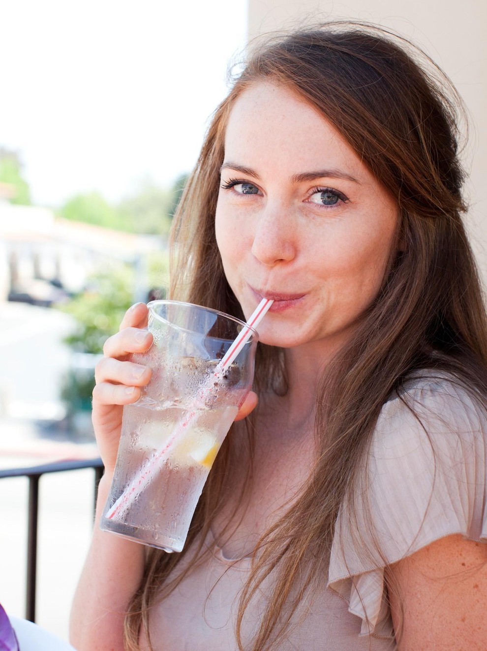
[[400,651],[487,648],[486,544],[441,538],[391,565],[387,580]]

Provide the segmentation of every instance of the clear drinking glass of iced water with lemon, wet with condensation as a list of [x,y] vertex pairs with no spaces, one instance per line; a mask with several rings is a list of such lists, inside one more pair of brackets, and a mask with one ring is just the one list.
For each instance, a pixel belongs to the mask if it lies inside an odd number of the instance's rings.
[[218,363],[248,325],[223,312],[149,303],[153,345],[132,360],[152,369],[122,434],[101,529],[181,551],[206,478],[252,387],[257,333],[230,367]]

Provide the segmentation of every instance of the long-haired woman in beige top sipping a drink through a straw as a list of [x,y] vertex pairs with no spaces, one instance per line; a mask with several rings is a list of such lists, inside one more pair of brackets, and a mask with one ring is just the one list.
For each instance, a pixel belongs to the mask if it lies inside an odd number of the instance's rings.
[[[172,296],[241,318],[274,299],[259,405],[183,553],[95,528],[80,651],[485,647],[487,320],[454,104],[397,42],[341,23],[276,37],[217,109]],[[127,361],[146,317],[127,312],[96,370],[99,510],[150,376]]]

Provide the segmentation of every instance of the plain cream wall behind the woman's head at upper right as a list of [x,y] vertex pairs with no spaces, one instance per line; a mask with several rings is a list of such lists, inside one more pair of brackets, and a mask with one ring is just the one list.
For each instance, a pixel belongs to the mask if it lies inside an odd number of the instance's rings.
[[460,92],[469,111],[467,224],[487,286],[487,3],[485,0],[249,0],[252,38],[330,18],[373,21],[421,46]]

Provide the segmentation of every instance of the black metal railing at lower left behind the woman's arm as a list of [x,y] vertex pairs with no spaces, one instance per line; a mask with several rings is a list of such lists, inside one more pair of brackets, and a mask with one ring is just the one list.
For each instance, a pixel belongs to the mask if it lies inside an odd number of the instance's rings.
[[37,574],[37,521],[39,512],[39,480],[42,475],[72,470],[93,468],[95,471],[95,504],[98,483],[103,475],[100,458],[77,461],[59,461],[53,464],[35,465],[27,468],[0,470],[0,479],[7,477],[27,477],[29,479],[29,511],[27,527],[27,587],[25,598],[25,618],[35,622],[36,616],[36,574]]

